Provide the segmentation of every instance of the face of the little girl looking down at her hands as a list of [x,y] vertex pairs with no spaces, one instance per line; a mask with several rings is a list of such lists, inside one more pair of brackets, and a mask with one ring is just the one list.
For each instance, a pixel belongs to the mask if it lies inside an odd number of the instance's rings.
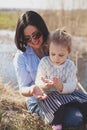
[[61,65],[66,61],[69,55],[68,48],[51,42],[49,47],[49,55],[54,64]]

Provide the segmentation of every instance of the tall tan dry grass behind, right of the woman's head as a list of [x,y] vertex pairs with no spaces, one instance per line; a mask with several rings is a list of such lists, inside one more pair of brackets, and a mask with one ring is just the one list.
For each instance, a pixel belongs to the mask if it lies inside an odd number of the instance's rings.
[[87,36],[87,10],[46,10],[40,11],[40,14],[50,30],[64,27],[72,35]]

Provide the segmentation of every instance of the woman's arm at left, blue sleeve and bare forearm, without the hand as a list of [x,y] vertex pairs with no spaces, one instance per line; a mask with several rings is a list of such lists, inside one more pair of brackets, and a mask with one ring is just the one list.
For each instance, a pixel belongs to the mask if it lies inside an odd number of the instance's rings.
[[24,55],[17,53],[15,55],[13,64],[17,76],[20,93],[26,97],[32,96],[35,85],[32,85],[32,78],[30,76],[30,73],[26,69]]

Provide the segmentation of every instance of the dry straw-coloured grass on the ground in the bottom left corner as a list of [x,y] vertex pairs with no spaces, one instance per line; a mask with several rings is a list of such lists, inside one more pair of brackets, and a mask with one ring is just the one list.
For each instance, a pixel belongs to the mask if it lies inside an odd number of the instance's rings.
[[51,130],[51,127],[27,111],[25,99],[19,92],[1,83],[0,130]]

